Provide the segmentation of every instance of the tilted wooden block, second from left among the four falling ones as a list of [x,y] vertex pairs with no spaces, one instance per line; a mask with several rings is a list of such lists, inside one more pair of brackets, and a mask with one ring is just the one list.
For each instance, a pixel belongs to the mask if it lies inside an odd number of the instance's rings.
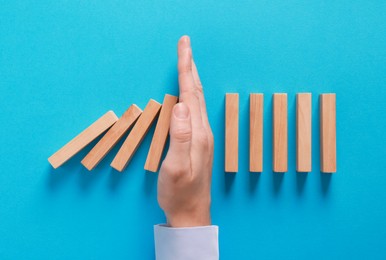
[[122,117],[110,128],[102,139],[94,146],[93,149],[84,157],[82,164],[89,171],[95,168],[100,161],[111,151],[119,142],[123,135],[134,124],[141,115],[142,110],[136,105],[131,105]]

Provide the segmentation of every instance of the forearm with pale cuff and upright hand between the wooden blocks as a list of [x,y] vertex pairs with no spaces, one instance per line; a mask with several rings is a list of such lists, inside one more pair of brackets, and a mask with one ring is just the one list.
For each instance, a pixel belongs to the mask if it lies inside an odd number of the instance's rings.
[[218,259],[218,228],[210,218],[213,134],[187,36],[178,42],[178,81],[170,147],[158,178],[167,225],[154,227],[156,258]]

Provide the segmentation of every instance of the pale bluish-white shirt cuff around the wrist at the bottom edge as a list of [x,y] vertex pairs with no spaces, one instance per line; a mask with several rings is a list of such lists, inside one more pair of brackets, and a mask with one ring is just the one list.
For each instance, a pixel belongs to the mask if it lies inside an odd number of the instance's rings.
[[157,260],[219,259],[218,226],[171,228],[154,226]]

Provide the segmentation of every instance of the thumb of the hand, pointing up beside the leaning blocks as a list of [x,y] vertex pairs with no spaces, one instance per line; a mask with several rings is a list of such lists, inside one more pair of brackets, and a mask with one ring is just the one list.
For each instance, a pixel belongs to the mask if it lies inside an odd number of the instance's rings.
[[188,106],[181,102],[174,106],[170,120],[168,157],[175,162],[189,161],[192,142],[192,124]]

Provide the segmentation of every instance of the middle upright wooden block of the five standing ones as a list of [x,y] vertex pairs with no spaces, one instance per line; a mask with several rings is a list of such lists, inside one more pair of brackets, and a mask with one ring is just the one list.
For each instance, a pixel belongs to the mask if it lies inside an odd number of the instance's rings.
[[288,170],[287,94],[273,95],[273,171]]

